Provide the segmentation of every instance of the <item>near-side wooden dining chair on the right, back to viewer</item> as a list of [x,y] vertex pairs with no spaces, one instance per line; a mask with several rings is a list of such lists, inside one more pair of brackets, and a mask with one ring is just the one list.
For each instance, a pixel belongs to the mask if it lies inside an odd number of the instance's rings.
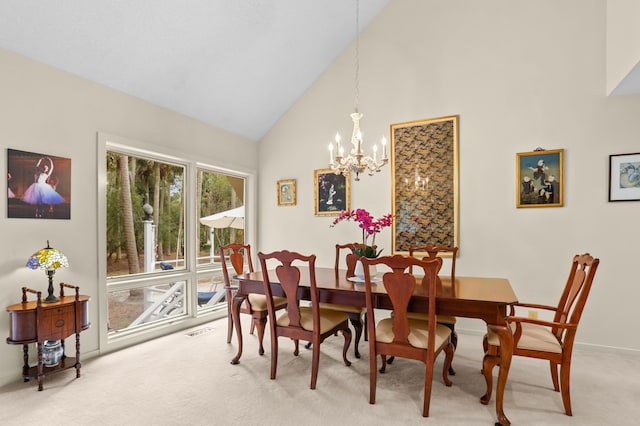
[[[446,386],[451,386],[449,367],[455,348],[451,342],[451,329],[436,321],[437,276],[442,267],[442,259],[417,259],[402,255],[381,256],[376,259],[361,259],[365,274],[367,322],[369,331],[369,403],[376,402],[377,359],[382,358],[380,373],[386,371],[387,356],[409,358],[425,363],[424,403],[422,415],[429,416],[433,366],[440,352],[445,352],[442,378]],[[393,306],[394,315],[381,319],[376,324],[370,265],[384,265],[389,272],[382,274],[382,285]],[[421,269],[423,278],[417,282],[409,268]],[[421,288],[420,288],[421,287]],[[380,291],[380,290],[377,290]],[[422,312],[428,314],[428,321],[413,320],[407,315],[409,302],[415,292],[428,295],[428,306]]]

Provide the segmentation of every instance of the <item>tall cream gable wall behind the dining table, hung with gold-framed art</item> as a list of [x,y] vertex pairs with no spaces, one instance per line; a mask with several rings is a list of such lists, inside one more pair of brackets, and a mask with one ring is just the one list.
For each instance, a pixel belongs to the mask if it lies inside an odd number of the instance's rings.
[[[574,254],[600,268],[578,331],[583,345],[640,350],[635,242],[640,202],[610,203],[609,155],[638,152],[640,96],[605,97],[604,0],[392,0],[360,39],[365,141],[389,125],[460,116],[460,275],[511,281],[522,301],[555,304]],[[336,242],[313,214],[313,170],[336,130],[351,132],[353,45],[261,141],[259,249],[289,248],[331,266]],[[517,209],[516,153],[565,150],[565,206]],[[298,180],[278,207],[276,180]],[[351,182],[351,207],[390,212],[389,167]],[[378,238],[389,253],[390,231]],[[480,321],[459,327],[481,331]]]

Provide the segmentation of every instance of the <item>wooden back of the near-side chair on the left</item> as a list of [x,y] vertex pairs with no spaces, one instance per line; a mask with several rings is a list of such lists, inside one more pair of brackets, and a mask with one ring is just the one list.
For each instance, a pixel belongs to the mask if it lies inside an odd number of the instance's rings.
[[[313,325],[314,330],[319,330],[317,325],[320,323],[319,310],[318,310],[318,291],[316,287],[316,273],[315,262],[316,256],[304,256],[300,253],[291,252],[288,250],[274,251],[272,253],[258,253],[260,259],[260,267],[262,269],[262,280],[264,282],[264,293],[267,296],[267,311],[269,312],[269,321],[271,326],[275,327],[277,324],[275,317],[275,304],[273,302],[274,293],[276,296],[284,296],[287,299],[287,314],[289,316],[289,328],[302,329],[300,324],[300,280],[301,272],[300,267],[293,265],[293,262],[301,263],[303,266],[307,266],[309,269],[309,288],[311,291],[311,305],[313,309]],[[267,267],[267,261],[274,259],[277,264],[275,268],[277,282],[280,285],[276,287],[271,286],[271,280],[269,279],[269,269]]]

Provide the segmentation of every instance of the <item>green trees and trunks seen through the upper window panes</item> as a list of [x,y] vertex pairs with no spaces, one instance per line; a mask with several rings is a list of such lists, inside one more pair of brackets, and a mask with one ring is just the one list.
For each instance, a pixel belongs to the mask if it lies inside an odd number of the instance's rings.
[[[184,177],[181,165],[162,163],[139,157],[128,157],[128,177],[131,190],[131,206],[123,205],[122,170],[119,162],[122,154],[109,151],[107,165],[107,264],[114,264],[127,256],[127,233],[125,217],[133,218],[135,247],[138,256],[144,251],[144,211],[148,203],[153,207],[153,222],[157,225],[156,260],[184,259]],[[243,193],[236,194],[232,181],[241,181],[219,173],[198,170],[198,218],[231,209],[244,204]],[[243,187],[242,184],[239,187]],[[193,218],[197,220],[198,218]],[[201,255],[209,254],[209,228],[198,222],[199,248]],[[214,248],[230,241],[243,241],[243,230],[217,229]],[[131,246],[129,246],[131,248]],[[126,268],[126,266],[125,266]],[[129,268],[130,269],[130,268]],[[112,273],[114,272],[114,273]],[[111,271],[108,275],[132,273],[131,271]]]

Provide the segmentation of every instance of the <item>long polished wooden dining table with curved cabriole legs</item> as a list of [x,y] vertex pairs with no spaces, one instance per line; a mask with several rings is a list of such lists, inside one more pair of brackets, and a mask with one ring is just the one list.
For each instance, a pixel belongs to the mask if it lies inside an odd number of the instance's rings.
[[[310,300],[308,269],[301,267],[301,299]],[[354,282],[346,277],[346,271],[336,273],[334,268],[315,268],[316,284],[320,302],[343,305],[365,306],[364,283]],[[269,274],[276,277],[276,274]],[[260,271],[245,273],[236,277],[238,288],[232,300],[232,316],[238,339],[238,352],[232,359],[232,364],[238,364],[242,356],[242,328],[240,324],[240,307],[249,293],[264,294],[264,283]],[[275,296],[283,296],[279,283],[272,281]],[[393,309],[382,283],[374,284],[374,308]],[[424,311],[428,306],[427,290],[417,285],[409,310]],[[509,280],[505,278],[458,277],[455,282],[450,278],[441,277],[437,288],[436,309],[440,315],[451,315],[465,318],[478,318],[500,338],[500,370],[496,387],[496,415],[501,425],[511,424],[504,414],[504,390],[511,365],[513,351],[513,335],[506,322],[507,309],[517,303],[518,299],[511,288]],[[479,363],[481,365],[481,363]],[[487,394],[480,398],[483,404],[489,403]]]

